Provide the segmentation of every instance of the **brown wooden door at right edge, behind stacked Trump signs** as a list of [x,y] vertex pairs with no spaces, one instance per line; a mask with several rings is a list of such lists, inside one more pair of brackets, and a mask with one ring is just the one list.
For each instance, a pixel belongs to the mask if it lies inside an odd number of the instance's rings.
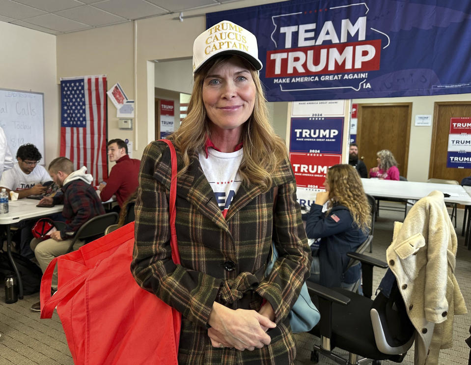
[[471,176],[471,169],[446,167],[448,134],[450,132],[450,118],[471,117],[471,101],[436,102],[433,115],[428,178],[461,182],[463,178]]

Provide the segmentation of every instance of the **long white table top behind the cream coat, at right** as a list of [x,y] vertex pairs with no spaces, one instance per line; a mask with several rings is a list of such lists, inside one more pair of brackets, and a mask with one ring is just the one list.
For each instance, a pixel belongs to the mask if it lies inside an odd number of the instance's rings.
[[439,190],[450,195],[444,199],[447,203],[471,205],[471,196],[461,185],[381,179],[361,179],[361,182],[365,193],[374,197],[418,200]]

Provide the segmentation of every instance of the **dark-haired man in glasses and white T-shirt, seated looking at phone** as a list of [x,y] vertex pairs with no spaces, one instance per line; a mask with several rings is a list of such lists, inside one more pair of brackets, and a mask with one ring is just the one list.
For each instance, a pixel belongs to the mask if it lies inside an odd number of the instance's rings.
[[[37,164],[41,157],[41,152],[38,151],[36,146],[30,143],[20,146],[16,152],[17,162],[13,165],[13,168],[4,171],[1,175],[0,189],[4,187],[8,192],[10,190],[15,191],[18,193],[18,198],[46,193],[49,187],[52,187],[52,185],[47,185],[54,182],[47,170]],[[13,240],[17,243],[19,241],[19,253],[27,258],[34,256],[29,248],[29,242],[32,239],[31,227],[34,221],[23,220],[14,225],[18,228],[18,233]]]

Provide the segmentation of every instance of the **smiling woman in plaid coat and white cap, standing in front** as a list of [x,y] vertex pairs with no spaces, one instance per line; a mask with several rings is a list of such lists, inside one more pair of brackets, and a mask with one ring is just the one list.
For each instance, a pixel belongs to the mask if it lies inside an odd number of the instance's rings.
[[[215,40],[224,37],[240,47]],[[286,147],[267,118],[257,52],[253,34],[227,21],[194,42],[188,116],[170,137],[181,265],[169,243],[170,152],[155,141],[142,156],[131,269],[182,313],[180,364],[286,365],[296,355],[287,315],[310,250]],[[272,240],[279,258],[265,276]]]

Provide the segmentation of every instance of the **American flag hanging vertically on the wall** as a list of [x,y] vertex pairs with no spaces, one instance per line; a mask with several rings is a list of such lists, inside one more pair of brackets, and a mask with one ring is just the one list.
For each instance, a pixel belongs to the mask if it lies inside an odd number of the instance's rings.
[[93,185],[108,179],[106,76],[60,79],[60,155],[87,167]]

